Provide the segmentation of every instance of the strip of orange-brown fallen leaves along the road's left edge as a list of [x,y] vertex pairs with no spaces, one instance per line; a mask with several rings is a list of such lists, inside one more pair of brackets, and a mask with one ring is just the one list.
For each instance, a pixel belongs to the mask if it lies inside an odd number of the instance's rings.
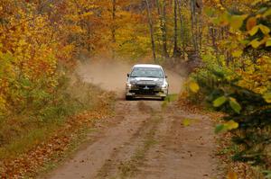
[[86,112],[71,117],[64,125],[56,130],[49,139],[38,143],[35,148],[20,157],[6,158],[0,162],[0,178],[23,178],[25,175],[37,175],[41,167],[48,162],[58,162],[70,148],[72,141],[79,138],[79,131],[94,122],[109,117],[111,114],[107,102]]

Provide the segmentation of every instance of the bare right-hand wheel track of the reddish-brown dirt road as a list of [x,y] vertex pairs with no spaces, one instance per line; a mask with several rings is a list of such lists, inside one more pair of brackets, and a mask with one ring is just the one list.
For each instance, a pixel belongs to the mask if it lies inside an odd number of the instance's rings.
[[[156,131],[158,144],[151,148],[145,163],[133,178],[207,179],[212,178],[216,161],[212,123],[207,116],[183,112],[171,105]],[[194,119],[184,127],[184,119]]]

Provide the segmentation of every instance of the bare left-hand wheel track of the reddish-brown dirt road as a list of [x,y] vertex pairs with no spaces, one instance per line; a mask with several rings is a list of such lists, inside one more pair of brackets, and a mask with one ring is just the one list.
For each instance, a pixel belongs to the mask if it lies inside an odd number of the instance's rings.
[[[155,106],[154,103],[150,102]],[[159,104],[157,104],[159,106]],[[67,160],[60,168],[51,175],[42,178],[97,178],[98,172],[112,160],[117,148],[125,148],[127,155],[133,153],[134,140],[148,130],[148,121],[154,109],[142,101],[129,103],[118,102],[116,105],[116,117],[110,119],[102,131],[97,134],[89,134],[92,142],[80,148],[72,159]]]

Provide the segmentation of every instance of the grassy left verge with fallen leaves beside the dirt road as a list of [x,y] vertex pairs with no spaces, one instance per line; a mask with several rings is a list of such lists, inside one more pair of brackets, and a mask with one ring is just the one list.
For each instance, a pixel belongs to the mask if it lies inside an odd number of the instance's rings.
[[[103,92],[94,85],[85,84],[78,77],[73,77],[71,81],[63,80],[63,85],[57,93],[51,94],[50,100],[27,106],[22,112],[1,117],[0,177],[27,175],[46,163],[42,170],[54,167],[53,158],[64,157],[66,153],[75,150],[91,124],[111,111],[115,100],[113,94]],[[51,151],[53,148],[48,145],[53,145],[53,142],[61,143],[61,137],[67,145],[56,148],[61,152]],[[52,144],[47,145],[47,142]],[[42,148],[49,151],[43,151]],[[21,174],[22,171],[19,171],[18,167],[23,167],[23,164],[20,164],[23,157],[42,157],[42,152],[45,157],[50,158],[44,158],[42,162],[39,159],[33,164],[26,162],[25,167],[30,169],[21,168],[25,173]],[[50,161],[53,162],[50,164]]]

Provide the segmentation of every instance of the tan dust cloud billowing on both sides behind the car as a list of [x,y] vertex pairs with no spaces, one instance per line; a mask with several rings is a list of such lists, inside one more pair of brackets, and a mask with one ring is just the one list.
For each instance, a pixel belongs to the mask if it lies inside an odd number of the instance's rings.
[[[86,83],[98,85],[107,91],[114,91],[118,97],[124,97],[126,86],[126,74],[131,71],[135,64],[123,61],[93,60],[80,63],[77,73]],[[183,77],[164,69],[168,76],[170,94],[178,94],[182,90]]]

